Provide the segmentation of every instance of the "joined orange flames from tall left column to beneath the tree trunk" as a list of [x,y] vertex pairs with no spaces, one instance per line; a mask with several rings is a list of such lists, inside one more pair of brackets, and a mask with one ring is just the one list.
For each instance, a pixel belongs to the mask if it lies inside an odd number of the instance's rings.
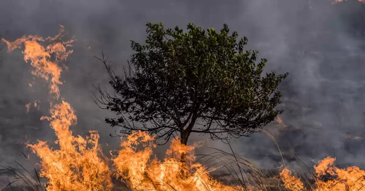
[[[196,160],[193,150],[197,145],[181,145],[180,140],[172,140],[170,148],[166,151],[163,161],[153,156],[154,137],[146,132],[134,132],[120,144],[116,155],[111,152],[111,159],[107,159],[99,146],[99,134],[89,131],[86,138],[74,136],[70,130],[71,125],[77,123],[77,116],[70,104],[64,100],[58,102],[60,97],[59,85],[62,68],[59,61],[66,60],[72,50],[71,41],[60,41],[64,36],[64,27],[55,37],[41,38],[37,36],[24,36],[14,42],[7,43],[8,51],[24,45],[24,60],[30,60],[34,68],[32,74],[49,82],[49,93],[56,104],[51,103],[50,116],[43,116],[41,120],[48,120],[50,127],[57,135],[55,144],[58,149],[50,148],[45,141],[36,144],[27,144],[32,152],[41,158],[41,177],[46,177],[48,191],[96,191],[115,187],[112,177],[125,181],[133,190],[155,191],[226,191],[239,190],[212,179],[209,171],[202,164],[194,163]],[[42,46],[40,42],[48,42]],[[54,57],[54,61],[51,59]],[[27,104],[29,110],[31,104]],[[37,104],[34,102],[34,107]],[[187,153],[184,163],[178,159],[182,153]],[[111,162],[112,164],[109,165]]]

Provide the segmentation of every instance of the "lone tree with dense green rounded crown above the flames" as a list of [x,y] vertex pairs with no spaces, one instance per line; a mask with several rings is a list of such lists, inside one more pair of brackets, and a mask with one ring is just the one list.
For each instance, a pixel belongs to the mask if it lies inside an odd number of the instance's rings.
[[99,85],[95,102],[116,112],[118,118],[105,121],[122,127],[120,133],[148,131],[160,145],[178,135],[186,145],[191,133],[228,142],[260,131],[283,112],[274,108],[281,97],[277,87],[288,73],[261,77],[266,59],[256,64],[258,51],[245,51],[247,39],[237,41],[226,24],[220,33],[191,23],[186,33],[163,23],[146,26],[146,45],[131,41],[136,53],[123,76],[104,55],[99,58],[115,94]]

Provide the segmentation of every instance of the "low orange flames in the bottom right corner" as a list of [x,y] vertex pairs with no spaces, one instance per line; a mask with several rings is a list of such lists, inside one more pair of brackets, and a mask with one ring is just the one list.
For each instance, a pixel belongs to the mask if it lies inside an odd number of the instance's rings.
[[[334,166],[336,158],[327,157],[318,161],[314,166],[316,171],[316,188],[315,191],[359,191],[365,190],[365,171],[358,167],[347,167],[340,169]],[[329,175],[331,179],[324,181],[321,177]],[[284,168],[280,173],[281,179],[288,190],[303,190],[303,183],[299,178],[292,176],[288,168]],[[288,185],[288,187],[287,187]],[[298,188],[298,189],[293,189]],[[301,188],[301,189],[300,189]]]

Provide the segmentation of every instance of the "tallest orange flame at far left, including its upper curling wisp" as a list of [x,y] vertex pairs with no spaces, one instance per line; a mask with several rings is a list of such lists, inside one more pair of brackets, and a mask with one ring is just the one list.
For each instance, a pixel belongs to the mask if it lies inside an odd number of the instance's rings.
[[[30,60],[33,67],[32,74],[49,81],[49,93],[54,99],[60,96],[59,86],[62,68],[60,61],[66,60],[72,50],[70,41],[61,41],[64,37],[64,27],[61,26],[59,34],[55,37],[42,38],[38,36],[23,36],[14,42],[2,39],[8,51],[15,50],[24,45],[24,60]],[[61,42],[59,42],[61,41]],[[43,46],[41,42],[47,42]],[[53,58],[54,57],[54,58]],[[51,61],[53,59],[53,61]],[[27,109],[29,105],[27,105]],[[34,153],[42,159],[41,176],[49,180],[47,190],[100,190],[100,185],[111,187],[111,177],[108,165],[99,156],[101,150],[98,145],[99,135],[90,131],[86,139],[81,136],[74,137],[69,127],[75,124],[77,117],[69,103],[62,101],[51,104],[50,116],[43,116],[41,120],[49,120],[50,127],[54,129],[58,140],[59,150],[49,148],[45,141],[37,144],[28,144]],[[91,148],[87,147],[91,145]]]

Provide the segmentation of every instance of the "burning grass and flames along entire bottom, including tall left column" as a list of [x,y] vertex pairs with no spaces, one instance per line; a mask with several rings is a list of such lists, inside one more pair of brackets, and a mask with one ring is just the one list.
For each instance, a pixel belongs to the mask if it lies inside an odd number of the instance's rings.
[[[7,174],[9,184],[26,186],[27,190],[47,191],[261,191],[261,190],[365,190],[365,171],[357,167],[339,169],[334,167],[334,158],[327,157],[315,166],[315,173],[293,176],[288,168],[263,172],[243,157],[216,150],[208,155],[195,155],[198,145],[181,145],[176,138],[171,141],[164,160],[153,156],[154,137],[145,132],[134,132],[120,144],[120,149],[107,158],[99,146],[99,134],[90,131],[86,138],[73,135],[70,126],[75,125],[77,117],[69,103],[59,101],[58,85],[62,84],[62,68],[59,62],[66,60],[72,50],[66,50],[72,41],[61,41],[64,28],[55,37],[41,38],[24,36],[14,42],[8,42],[12,51],[24,45],[24,60],[30,61],[32,74],[49,82],[51,96],[50,127],[57,135],[59,149],[50,148],[47,142],[38,141],[28,144],[32,152],[41,158],[41,171],[36,177],[28,171],[11,167],[2,167],[1,174]],[[43,46],[40,42],[47,42]],[[280,118],[278,118],[279,120]],[[278,121],[280,124],[283,122]],[[178,156],[187,153],[186,163]],[[20,164],[19,164],[20,165]],[[20,165],[21,167],[21,165]],[[229,179],[214,178],[214,172],[224,170]],[[324,180],[323,176],[330,176]],[[219,175],[218,175],[219,176]],[[46,178],[43,184],[41,178]],[[44,185],[44,186],[43,186]]]

